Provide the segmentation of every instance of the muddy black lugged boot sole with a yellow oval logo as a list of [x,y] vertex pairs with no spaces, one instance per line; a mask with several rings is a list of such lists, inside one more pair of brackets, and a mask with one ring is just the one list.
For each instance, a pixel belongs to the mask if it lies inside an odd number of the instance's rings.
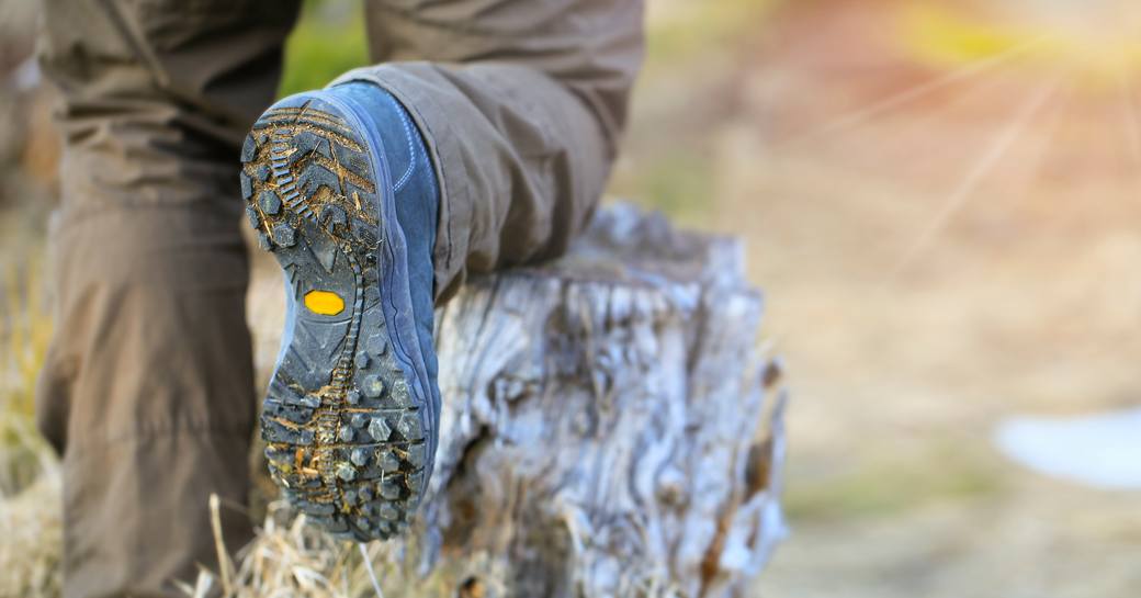
[[431,407],[382,306],[394,268],[378,267],[391,243],[378,151],[335,106],[288,99],[254,124],[241,172],[250,224],[291,301],[261,415],[270,474],[294,507],[362,541],[408,523],[435,450]]

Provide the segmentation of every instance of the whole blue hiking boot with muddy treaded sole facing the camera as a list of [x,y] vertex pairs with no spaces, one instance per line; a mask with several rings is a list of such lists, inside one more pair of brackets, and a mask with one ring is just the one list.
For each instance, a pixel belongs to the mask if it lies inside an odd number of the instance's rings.
[[285,275],[261,414],[269,470],[333,534],[390,538],[427,488],[440,411],[438,191],[423,138],[374,84],[299,94],[254,123],[241,183],[258,242]]

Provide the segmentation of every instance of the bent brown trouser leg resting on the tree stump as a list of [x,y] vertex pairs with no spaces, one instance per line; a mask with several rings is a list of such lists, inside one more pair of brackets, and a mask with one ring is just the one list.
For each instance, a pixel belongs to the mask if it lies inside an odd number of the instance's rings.
[[372,80],[423,131],[443,194],[437,296],[563,253],[601,195],[642,59],[641,0],[369,0]]

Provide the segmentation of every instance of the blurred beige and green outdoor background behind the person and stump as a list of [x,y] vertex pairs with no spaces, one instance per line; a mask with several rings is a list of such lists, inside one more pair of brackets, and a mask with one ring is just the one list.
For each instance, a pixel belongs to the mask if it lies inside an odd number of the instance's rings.
[[[744,239],[788,365],[792,535],[755,595],[1136,597],[1141,7],[648,1],[610,195]],[[5,596],[51,596],[60,542],[34,21],[0,3]],[[309,2],[282,92],[365,54],[356,2]],[[254,259],[265,378],[280,283]]]

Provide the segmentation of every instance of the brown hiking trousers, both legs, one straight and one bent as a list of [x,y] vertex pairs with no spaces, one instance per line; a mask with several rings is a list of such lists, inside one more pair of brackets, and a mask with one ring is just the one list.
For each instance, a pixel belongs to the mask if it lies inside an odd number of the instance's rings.
[[[64,462],[64,596],[168,596],[243,503],[256,418],[237,154],[299,0],[46,0],[62,91],[56,336],[39,403]],[[437,294],[556,256],[605,185],[641,0],[375,0],[373,59],[443,193]],[[337,40],[329,40],[337,43]],[[229,546],[248,518],[224,509]]]

